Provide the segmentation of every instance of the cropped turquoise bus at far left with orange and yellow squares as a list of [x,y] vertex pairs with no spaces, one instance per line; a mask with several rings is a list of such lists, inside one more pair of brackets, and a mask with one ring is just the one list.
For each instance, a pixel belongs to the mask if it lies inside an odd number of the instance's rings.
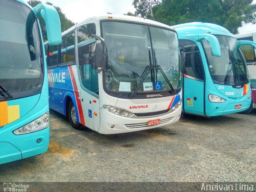
[[0,1],[0,164],[48,148],[48,80],[38,17],[49,43],[60,44],[60,19],[52,6]]

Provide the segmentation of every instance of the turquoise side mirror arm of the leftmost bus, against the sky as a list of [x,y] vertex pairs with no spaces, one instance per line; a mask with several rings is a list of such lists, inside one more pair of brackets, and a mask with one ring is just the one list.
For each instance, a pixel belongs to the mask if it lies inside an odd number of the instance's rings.
[[56,9],[53,6],[40,3],[33,10],[37,17],[42,17],[45,21],[49,44],[61,44],[60,18]]

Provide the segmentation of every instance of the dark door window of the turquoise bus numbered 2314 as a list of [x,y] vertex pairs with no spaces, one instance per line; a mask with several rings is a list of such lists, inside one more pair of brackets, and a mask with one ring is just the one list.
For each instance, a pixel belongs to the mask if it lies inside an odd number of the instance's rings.
[[184,74],[204,80],[204,68],[199,48],[192,40],[179,40],[186,53]]

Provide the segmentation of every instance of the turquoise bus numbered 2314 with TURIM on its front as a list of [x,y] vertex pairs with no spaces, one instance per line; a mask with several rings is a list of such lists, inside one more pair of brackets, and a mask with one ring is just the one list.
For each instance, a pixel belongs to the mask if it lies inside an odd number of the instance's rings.
[[173,26],[180,49],[183,107],[187,114],[218,116],[247,110],[251,104],[248,69],[241,44],[222,26],[192,22]]

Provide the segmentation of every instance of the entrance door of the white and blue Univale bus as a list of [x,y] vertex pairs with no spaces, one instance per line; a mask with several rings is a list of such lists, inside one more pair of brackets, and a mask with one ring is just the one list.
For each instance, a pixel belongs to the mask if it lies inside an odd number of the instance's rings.
[[100,107],[98,97],[98,73],[93,64],[96,42],[78,45],[80,100],[86,127],[98,131]]

